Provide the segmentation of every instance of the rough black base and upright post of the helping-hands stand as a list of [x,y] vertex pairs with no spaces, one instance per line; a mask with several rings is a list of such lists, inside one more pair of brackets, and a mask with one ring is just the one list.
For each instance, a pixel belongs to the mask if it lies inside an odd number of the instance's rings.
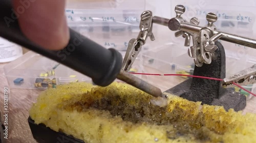
[[[215,59],[209,65],[204,64],[200,68],[195,66],[194,75],[225,78],[225,50],[220,42],[215,44],[218,46],[215,51]],[[239,111],[246,106],[246,96],[234,92],[233,89],[223,89],[221,81],[218,80],[191,78],[166,92],[190,101],[201,101],[202,104],[224,106],[226,110],[233,108],[235,111]]]

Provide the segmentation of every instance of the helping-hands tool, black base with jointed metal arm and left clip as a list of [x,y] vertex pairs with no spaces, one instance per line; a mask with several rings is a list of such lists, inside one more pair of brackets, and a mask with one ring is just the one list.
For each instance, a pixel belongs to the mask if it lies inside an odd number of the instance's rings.
[[[145,11],[141,14],[141,31],[137,39],[132,39],[129,42],[122,63],[123,70],[130,70],[147,37],[150,37],[152,41],[155,40],[152,33],[153,23],[167,26],[169,30],[176,32],[176,37],[185,38],[184,46],[189,47],[191,39],[193,40],[193,46],[188,48],[188,55],[194,60],[196,65],[194,75],[197,76],[225,78],[225,50],[222,44],[218,42],[219,39],[256,49],[256,41],[253,39],[218,31],[214,25],[218,17],[214,13],[208,13],[206,15],[208,24],[200,27],[198,18],[193,17],[189,22],[182,18],[181,15],[185,12],[184,6],[176,6],[175,12],[177,15],[172,19],[153,16],[151,11]],[[249,74],[248,76],[252,76],[254,73],[250,71]],[[241,78],[243,77],[241,76]],[[252,83],[252,81],[250,82]],[[236,93],[233,89],[224,88],[225,84],[223,81],[191,78],[166,92],[191,101],[201,101],[202,104],[224,106],[226,110],[230,108],[236,111],[244,109],[246,106],[245,95]]]

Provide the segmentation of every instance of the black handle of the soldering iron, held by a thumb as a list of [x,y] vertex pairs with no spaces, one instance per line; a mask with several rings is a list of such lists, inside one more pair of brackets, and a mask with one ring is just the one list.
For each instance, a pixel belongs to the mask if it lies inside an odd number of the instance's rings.
[[117,50],[106,49],[71,28],[67,47],[59,51],[44,49],[26,38],[20,31],[17,21],[19,15],[17,11],[17,14],[14,14],[11,1],[0,0],[0,10],[0,37],[87,75],[95,84],[103,87],[112,83],[119,74],[122,55]]

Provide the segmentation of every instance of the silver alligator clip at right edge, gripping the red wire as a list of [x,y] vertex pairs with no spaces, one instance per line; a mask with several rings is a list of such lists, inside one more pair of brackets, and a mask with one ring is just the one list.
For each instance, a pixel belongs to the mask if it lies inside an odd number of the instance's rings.
[[256,83],[256,64],[230,77],[224,78],[222,86],[224,88],[233,88],[236,86],[233,82],[241,86]]

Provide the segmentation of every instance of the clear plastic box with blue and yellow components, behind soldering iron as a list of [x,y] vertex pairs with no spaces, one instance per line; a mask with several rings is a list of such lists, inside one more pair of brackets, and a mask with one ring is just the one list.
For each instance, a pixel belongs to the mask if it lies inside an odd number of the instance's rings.
[[[140,65],[138,58],[131,72],[141,72]],[[88,76],[32,51],[7,64],[4,72],[9,87],[17,89],[45,90],[70,82],[92,82]],[[136,76],[140,77],[140,75]]]

